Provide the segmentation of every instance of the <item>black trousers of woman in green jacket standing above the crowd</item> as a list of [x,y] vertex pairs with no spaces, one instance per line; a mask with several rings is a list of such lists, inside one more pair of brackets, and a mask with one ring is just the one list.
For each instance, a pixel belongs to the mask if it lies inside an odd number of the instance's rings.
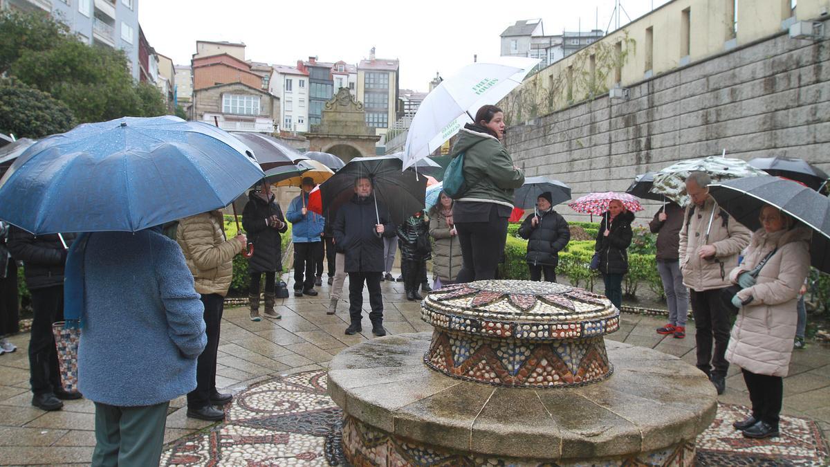
[[457,222],[456,230],[462,259],[456,282],[496,278],[496,268],[505,251],[507,218],[499,217],[498,209],[493,208],[487,222]]

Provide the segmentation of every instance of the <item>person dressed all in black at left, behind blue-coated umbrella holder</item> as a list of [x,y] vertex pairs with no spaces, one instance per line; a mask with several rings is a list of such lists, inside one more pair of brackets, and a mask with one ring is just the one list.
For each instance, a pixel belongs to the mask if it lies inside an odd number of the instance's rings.
[[42,410],[61,410],[61,400],[79,399],[81,394],[66,392],[61,384],[52,323],[63,319],[63,268],[66,250],[75,234],[35,235],[12,227],[8,250],[23,262],[26,285],[32,292],[31,338],[29,340],[29,382],[32,406]]

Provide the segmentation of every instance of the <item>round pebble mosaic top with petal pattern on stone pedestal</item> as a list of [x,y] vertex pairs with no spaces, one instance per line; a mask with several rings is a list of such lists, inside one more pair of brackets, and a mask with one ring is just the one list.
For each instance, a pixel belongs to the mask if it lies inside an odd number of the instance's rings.
[[486,337],[534,341],[581,339],[617,331],[608,298],[559,283],[515,280],[453,284],[422,302],[422,320]]

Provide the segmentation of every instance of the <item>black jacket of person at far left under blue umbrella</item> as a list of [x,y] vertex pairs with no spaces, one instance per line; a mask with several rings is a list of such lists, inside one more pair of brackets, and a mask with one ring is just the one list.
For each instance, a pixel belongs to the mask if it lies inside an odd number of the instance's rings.
[[[69,247],[76,234],[62,234]],[[63,285],[63,268],[66,264],[66,248],[57,234],[29,234],[12,226],[9,230],[8,251],[12,258],[23,262],[26,285],[29,289]]]

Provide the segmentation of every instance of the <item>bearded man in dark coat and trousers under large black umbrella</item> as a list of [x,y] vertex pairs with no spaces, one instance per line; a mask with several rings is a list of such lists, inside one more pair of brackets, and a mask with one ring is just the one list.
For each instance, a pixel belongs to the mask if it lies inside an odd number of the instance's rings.
[[[383,274],[383,237],[393,237],[395,229],[388,220],[386,207],[377,204],[372,196],[372,182],[368,178],[354,179],[354,197],[337,211],[334,219],[334,245],[345,254],[346,273],[349,273],[349,318],[346,334],[363,331],[360,326],[363,307],[363,287],[369,289],[372,312],[372,333],[385,336],[383,329],[383,297],[380,278]],[[377,209],[377,210],[376,210]]]

